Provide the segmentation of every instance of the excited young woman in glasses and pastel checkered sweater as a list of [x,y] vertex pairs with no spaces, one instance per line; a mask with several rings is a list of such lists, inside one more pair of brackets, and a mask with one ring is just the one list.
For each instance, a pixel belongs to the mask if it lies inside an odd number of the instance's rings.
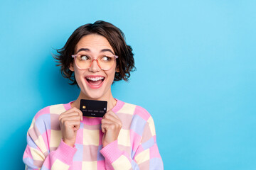
[[[122,30],[105,21],[76,29],[55,57],[80,87],[75,101],[36,113],[23,154],[26,169],[164,169],[151,115],[112,96],[134,69]],[[80,100],[107,101],[103,118],[82,116]]]

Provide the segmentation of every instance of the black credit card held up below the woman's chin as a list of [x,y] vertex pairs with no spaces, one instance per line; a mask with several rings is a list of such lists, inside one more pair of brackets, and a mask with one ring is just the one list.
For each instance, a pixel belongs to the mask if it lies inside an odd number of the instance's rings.
[[107,101],[92,101],[81,99],[80,111],[82,116],[102,118],[107,112]]

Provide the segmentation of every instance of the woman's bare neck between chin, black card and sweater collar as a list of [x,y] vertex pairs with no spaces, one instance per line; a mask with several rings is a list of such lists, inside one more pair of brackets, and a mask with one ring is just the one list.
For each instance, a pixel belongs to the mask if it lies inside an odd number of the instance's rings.
[[73,103],[71,103],[71,107],[76,107],[79,109],[81,99],[95,100],[95,101],[107,101],[107,111],[110,111],[112,108],[114,108],[114,106],[117,103],[117,101],[114,99],[114,97],[112,96],[111,93],[107,96],[102,96],[101,98],[96,99],[96,98],[90,98],[88,96],[85,96],[85,94],[83,94],[82,91],[80,91],[78,98]]

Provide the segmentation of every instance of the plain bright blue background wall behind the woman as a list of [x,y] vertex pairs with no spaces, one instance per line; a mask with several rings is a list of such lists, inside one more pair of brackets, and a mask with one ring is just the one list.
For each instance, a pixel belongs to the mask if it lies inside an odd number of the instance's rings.
[[1,1],[1,169],[24,169],[41,108],[79,90],[51,53],[79,26],[124,31],[137,71],[115,98],[154,118],[165,169],[256,169],[256,1]]

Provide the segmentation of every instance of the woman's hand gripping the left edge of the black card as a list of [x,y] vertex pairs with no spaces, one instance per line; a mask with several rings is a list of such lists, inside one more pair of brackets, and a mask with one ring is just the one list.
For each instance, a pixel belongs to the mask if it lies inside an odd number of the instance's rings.
[[74,147],[75,138],[80,128],[80,121],[82,120],[82,112],[78,108],[70,108],[60,114],[59,122],[60,129],[63,135],[63,142],[70,147]]

